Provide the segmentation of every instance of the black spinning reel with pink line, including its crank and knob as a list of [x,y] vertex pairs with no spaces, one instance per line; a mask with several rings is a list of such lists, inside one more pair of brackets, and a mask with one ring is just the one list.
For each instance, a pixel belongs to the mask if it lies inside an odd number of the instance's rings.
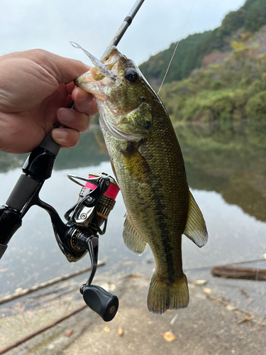
[[[62,253],[70,262],[78,261],[88,252],[92,263],[92,271],[84,285],[80,287],[84,301],[109,322],[118,310],[118,297],[111,295],[104,288],[92,285],[96,273],[99,236],[106,231],[107,218],[113,209],[119,187],[111,176],[105,173],[89,175],[89,179],[77,175],[67,175],[70,180],[82,185],[78,180],[86,181],[79,192],[79,200],[66,213],[67,224],[59,220],[55,209],[42,206],[50,214],[55,239]],[[101,229],[103,226],[103,229]]]

